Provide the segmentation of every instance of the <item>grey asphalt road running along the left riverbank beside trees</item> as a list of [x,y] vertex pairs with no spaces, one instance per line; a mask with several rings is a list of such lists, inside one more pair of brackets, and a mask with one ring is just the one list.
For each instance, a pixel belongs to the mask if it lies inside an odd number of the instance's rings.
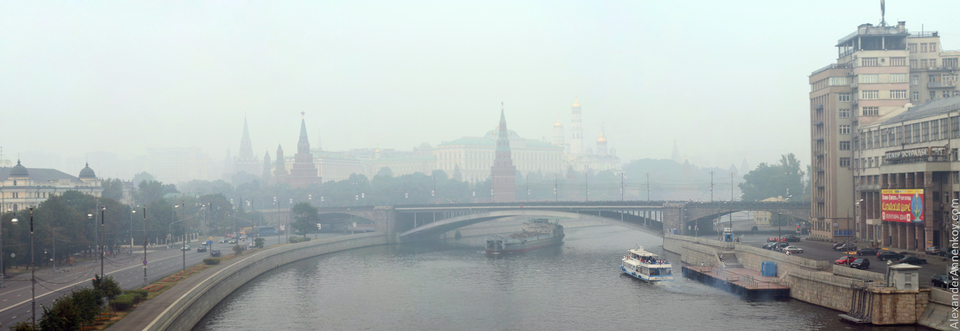
[[[275,244],[274,237],[268,237],[268,245]],[[224,254],[232,253],[232,245],[218,244],[214,241],[214,249],[220,249]],[[203,262],[209,257],[207,252],[197,252],[199,242],[193,242],[191,249],[183,254],[178,248],[148,248],[147,281],[153,282],[183,268],[183,256],[186,256],[186,267]],[[104,272],[112,276],[125,290],[143,287],[143,248],[134,250],[133,254],[119,254],[108,257],[104,263]],[[90,286],[90,279],[94,273],[100,272],[100,261],[84,261],[75,267],[59,268],[53,273],[51,268],[36,270],[36,318],[43,312],[42,305],[49,305],[57,297],[70,293],[74,287]],[[31,282],[30,273],[19,274],[7,279],[0,288],[0,326],[10,327],[19,321],[31,319]]]

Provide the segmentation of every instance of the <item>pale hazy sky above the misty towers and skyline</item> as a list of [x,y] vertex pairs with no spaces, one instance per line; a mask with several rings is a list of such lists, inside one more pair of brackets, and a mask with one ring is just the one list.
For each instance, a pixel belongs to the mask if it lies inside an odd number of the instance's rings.
[[[955,1],[887,21],[960,49]],[[807,75],[879,1],[0,2],[0,140],[122,158],[154,147],[410,150],[491,130],[527,138],[583,105],[624,160],[809,160]],[[10,156],[7,156],[10,157]],[[10,157],[12,158],[12,157]]]

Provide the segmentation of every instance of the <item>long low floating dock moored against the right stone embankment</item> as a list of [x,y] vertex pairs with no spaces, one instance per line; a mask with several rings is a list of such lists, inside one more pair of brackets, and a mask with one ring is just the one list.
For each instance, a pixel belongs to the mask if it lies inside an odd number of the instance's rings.
[[790,297],[790,288],[776,283],[777,277],[765,277],[760,275],[760,272],[749,269],[684,266],[683,271],[684,277],[747,299],[771,300]]

